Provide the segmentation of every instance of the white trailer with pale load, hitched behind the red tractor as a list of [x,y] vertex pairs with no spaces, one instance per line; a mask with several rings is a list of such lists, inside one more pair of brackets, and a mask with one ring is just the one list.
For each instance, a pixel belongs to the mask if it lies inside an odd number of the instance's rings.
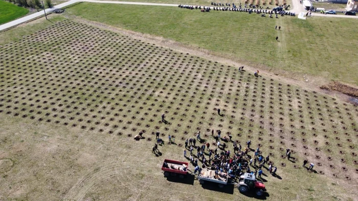
[[220,188],[223,188],[228,184],[229,175],[226,172],[219,172],[218,177],[215,177],[215,170],[208,168],[201,169],[198,174],[198,180],[200,184],[204,184],[205,181],[218,183]]

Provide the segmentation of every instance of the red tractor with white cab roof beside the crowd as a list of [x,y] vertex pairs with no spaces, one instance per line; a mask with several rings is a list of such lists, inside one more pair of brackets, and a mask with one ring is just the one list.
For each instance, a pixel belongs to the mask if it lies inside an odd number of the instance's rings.
[[255,190],[257,196],[262,196],[264,191],[266,191],[266,188],[262,182],[256,180],[254,174],[244,173],[239,179],[239,191],[241,193],[246,193],[249,190]]

